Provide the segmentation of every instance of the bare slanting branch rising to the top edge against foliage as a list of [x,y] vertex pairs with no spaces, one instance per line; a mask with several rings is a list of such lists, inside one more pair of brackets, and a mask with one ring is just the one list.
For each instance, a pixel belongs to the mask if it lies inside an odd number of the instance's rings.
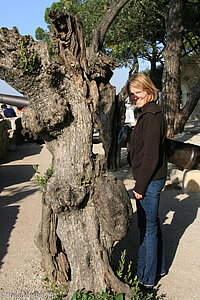
[[99,25],[95,28],[93,39],[92,39],[92,49],[94,52],[98,52],[103,47],[104,38],[106,32],[108,31],[110,25],[119,14],[120,10],[129,0],[117,0],[109,8],[106,15],[103,17]]

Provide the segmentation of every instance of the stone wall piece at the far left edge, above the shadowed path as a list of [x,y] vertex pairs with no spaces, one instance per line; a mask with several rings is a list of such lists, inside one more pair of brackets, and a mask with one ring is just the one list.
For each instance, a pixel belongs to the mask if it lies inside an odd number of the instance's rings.
[[0,120],[0,161],[9,149],[8,123],[6,120]]

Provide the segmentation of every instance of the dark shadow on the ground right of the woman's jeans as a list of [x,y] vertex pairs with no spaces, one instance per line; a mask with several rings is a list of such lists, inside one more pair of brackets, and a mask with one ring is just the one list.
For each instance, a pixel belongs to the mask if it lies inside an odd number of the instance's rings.
[[[162,194],[160,219],[165,242],[166,266],[171,267],[179,242],[186,229],[194,222],[200,207],[200,194],[167,191]],[[189,247],[191,245],[188,245]]]

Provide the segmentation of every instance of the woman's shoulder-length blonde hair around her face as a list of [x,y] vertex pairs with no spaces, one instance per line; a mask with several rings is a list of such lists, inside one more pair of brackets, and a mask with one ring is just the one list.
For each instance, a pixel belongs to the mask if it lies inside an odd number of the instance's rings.
[[[130,86],[134,86],[143,91],[146,91],[151,96],[149,102],[157,100],[158,89],[155,87],[155,85],[153,84],[151,79],[149,77],[147,77],[145,74],[135,73],[128,80],[127,92],[128,92],[129,97],[130,97]],[[131,97],[130,97],[130,99],[131,99]]]

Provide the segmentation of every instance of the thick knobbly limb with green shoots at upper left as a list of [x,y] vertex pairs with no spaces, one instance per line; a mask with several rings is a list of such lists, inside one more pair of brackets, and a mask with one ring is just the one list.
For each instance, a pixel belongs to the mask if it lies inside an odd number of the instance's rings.
[[0,28],[0,78],[28,100],[38,89],[35,78],[47,61],[45,43],[34,41],[30,35],[21,36],[17,27]]

